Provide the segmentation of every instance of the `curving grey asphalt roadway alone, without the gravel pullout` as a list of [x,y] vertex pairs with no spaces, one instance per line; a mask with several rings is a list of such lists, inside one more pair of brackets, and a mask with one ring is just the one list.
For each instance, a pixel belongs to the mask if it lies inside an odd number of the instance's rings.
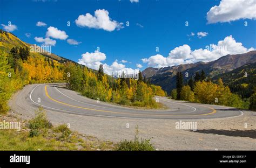
[[230,107],[173,101],[166,97],[157,97],[167,106],[166,110],[143,110],[116,106],[87,99],[61,84],[36,85],[30,92],[31,106],[43,106],[45,109],[68,114],[152,119],[201,119],[224,118],[242,115],[242,111]]

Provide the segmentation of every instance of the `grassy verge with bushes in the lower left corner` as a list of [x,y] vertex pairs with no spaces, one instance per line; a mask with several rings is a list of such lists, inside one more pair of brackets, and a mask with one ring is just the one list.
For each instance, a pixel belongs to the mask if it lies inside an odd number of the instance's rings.
[[[14,117],[9,116],[8,118],[11,121],[16,120]],[[47,120],[43,108],[39,108],[36,111],[35,118],[32,118],[28,122],[23,121],[20,131],[14,129],[0,130],[0,150],[114,149],[115,146],[112,142],[99,141],[95,137],[80,135],[75,131],[71,131],[67,124],[60,124],[53,127]]]

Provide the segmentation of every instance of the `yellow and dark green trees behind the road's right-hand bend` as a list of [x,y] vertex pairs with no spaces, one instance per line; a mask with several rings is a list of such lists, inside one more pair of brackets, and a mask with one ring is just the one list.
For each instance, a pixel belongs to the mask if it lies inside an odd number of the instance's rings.
[[232,93],[220,78],[216,83],[206,78],[204,71],[201,74],[197,72],[196,76],[184,85],[183,75],[178,72],[176,89],[171,91],[171,97],[176,100],[256,110],[255,93],[256,87],[249,99],[242,99],[240,95]]

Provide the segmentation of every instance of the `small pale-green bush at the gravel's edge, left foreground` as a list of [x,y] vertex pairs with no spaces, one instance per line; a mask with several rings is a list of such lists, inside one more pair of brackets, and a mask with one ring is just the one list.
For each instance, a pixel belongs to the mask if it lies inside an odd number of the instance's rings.
[[42,107],[35,112],[35,118],[29,121],[30,137],[45,133],[47,129],[52,128],[51,122],[46,118],[46,113]]

